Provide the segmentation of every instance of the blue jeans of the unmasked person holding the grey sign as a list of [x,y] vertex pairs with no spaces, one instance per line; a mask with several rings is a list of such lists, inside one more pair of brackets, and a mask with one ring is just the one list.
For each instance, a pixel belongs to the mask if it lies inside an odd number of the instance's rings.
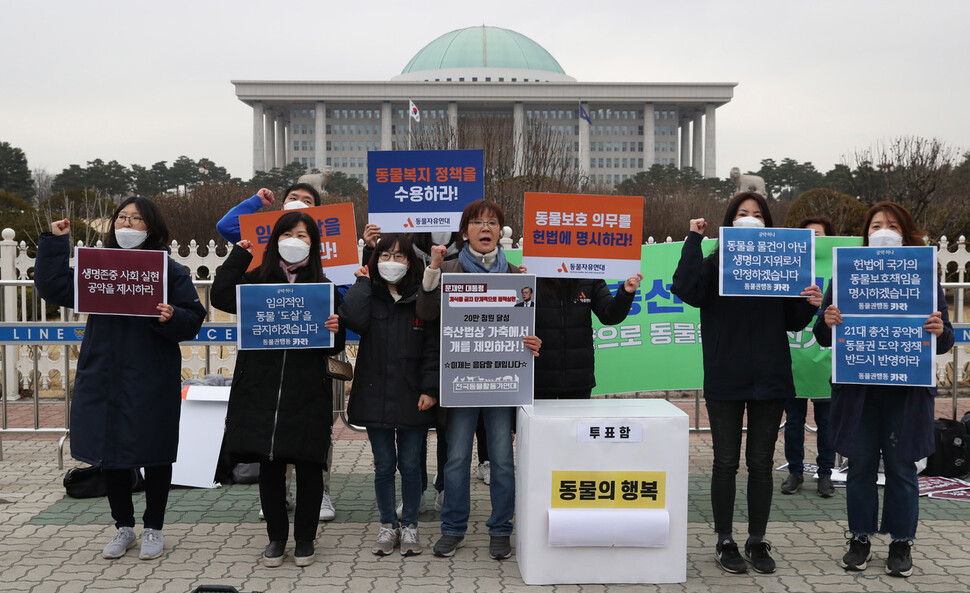
[[441,534],[464,536],[471,507],[472,439],[478,416],[488,434],[492,479],[489,494],[492,514],[488,534],[512,535],[515,512],[515,467],[512,457],[512,422],[515,408],[451,408],[448,411],[448,462],[445,464],[445,500],[441,506]]

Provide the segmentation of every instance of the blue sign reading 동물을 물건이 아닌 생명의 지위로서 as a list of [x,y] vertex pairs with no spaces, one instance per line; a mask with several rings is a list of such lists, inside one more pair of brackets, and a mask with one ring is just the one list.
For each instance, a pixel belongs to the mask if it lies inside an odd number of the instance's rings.
[[800,297],[815,283],[810,229],[721,227],[721,296]]

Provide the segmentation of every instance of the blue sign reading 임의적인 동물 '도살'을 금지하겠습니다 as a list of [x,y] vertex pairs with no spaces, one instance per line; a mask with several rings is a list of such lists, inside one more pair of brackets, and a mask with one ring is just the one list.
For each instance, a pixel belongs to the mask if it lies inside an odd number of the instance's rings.
[[236,287],[240,350],[332,348],[324,323],[333,284],[241,284]]

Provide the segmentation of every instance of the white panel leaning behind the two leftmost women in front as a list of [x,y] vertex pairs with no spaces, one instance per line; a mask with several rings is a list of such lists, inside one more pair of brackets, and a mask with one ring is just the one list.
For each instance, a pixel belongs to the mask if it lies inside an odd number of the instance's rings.
[[216,465],[225,434],[229,387],[188,385],[182,388],[178,460],[172,484],[214,488]]

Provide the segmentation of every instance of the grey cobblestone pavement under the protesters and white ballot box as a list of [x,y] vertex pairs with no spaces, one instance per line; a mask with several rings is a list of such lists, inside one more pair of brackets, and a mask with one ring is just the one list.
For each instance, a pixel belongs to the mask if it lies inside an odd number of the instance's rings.
[[[11,405],[20,405],[12,403]],[[968,407],[961,403],[960,414]],[[74,593],[188,593],[202,584],[232,585],[240,591],[966,591],[970,582],[970,503],[921,499],[920,526],[913,548],[915,570],[909,579],[884,572],[889,541],[874,538],[874,558],[863,573],[846,573],[837,564],[844,551],[845,499],[839,490],[821,499],[806,480],[796,495],[774,497],[768,539],[778,562],[771,575],[731,575],[713,559],[710,512],[710,438],[690,438],[690,505],[687,581],[668,585],[557,585],[533,587],[522,582],[515,557],[497,562],[488,557],[488,489],[472,479],[472,516],[468,545],[450,559],[435,558],[430,547],[438,523],[433,493],[421,515],[420,539],[425,552],[384,558],[370,552],[376,537],[371,455],[366,438],[342,428],[335,434],[332,494],[336,520],[322,523],[317,561],[298,568],[258,563],[266,543],[258,519],[258,493],[253,485],[172,491],[165,526],[165,554],[138,559],[137,549],[118,560],[101,558],[101,548],[114,533],[104,499],[73,500],[64,496],[57,468],[56,441],[7,435],[0,461],[0,590]],[[814,438],[807,439],[814,447]],[[429,440],[434,465],[435,439]],[[779,439],[776,465],[783,462]],[[806,458],[813,458],[807,451]],[[78,465],[65,460],[65,469]],[[471,468],[470,468],[471,471]],[[432,470],[433,472],[433,470]],[[777,472],[777,484],[785,477]],[[743,528],[745,478],[739,476],[742,501],[736,524]],[[136,495],[136,515],[144,508]],[[140,533],[141,527],[136,528]],[[739,536],[740,537],[740,536]],[[513,538],[514,543],[514,538]],[[292,556],[292,541],[288,553]]]

